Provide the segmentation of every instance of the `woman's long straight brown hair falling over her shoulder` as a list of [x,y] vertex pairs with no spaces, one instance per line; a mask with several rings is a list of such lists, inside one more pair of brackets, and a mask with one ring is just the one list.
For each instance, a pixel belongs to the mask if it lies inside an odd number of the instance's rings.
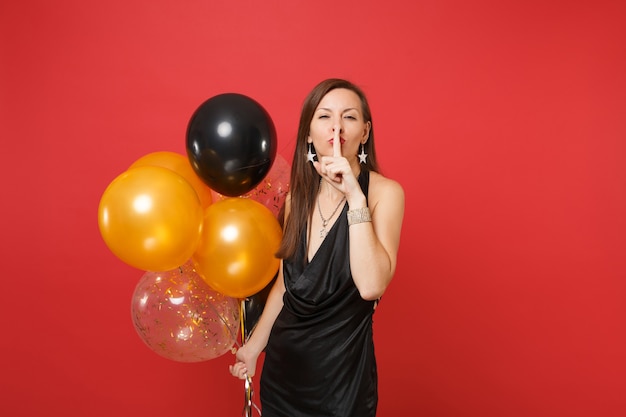
[[302,234],[306,233],[306,224],[315,209],[315,198],[317,196],[320,176],[307,161],[307,138],[311,127],[313,114],[320,101],[329,91],[336,88],[345,88],[353,91],[361,100],[361,111],[364,121],[370,122],[370,135],[365,142],[365,153],[367,162],[361,165],[361,172],[378,172],[378,162],[376,161],[376,148],[374,146],[374,124],[372,123],[372,113],[370,111],[367,97],[355,84],[347,80],[331,78],[322,81],[311,90],[304,100],[302,112],[300,113],[300,124],[298,125],[298,136],[296,138],[296,148],[291,164],[291,178],[289,182],[289,216],[283,227],[283,239],[276,256],[282,259],[291,258],[302,239]]

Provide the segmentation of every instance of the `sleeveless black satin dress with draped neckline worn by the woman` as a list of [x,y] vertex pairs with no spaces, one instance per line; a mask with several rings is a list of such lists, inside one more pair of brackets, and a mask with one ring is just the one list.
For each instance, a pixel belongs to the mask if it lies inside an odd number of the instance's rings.
[[[366,198],[369,172],[359,183]],[[260,379],[263,417],[373,417],[378,403],[374,301],[350,273],[348,205],[307,262],[306,236],[283,265],[284,306]]]

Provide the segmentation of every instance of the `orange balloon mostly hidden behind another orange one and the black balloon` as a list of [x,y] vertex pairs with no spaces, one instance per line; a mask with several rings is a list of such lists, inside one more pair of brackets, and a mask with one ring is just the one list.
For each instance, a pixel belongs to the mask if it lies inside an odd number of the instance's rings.
[[189,163],[189,158],[186,156],[168,151],[152,152],[133,162],[130,168],[143,166],[156,166],[171,169],[186,179],[193,189],[196,190],[202,208],[207,208],[213,202],[211,189],[198,177]]

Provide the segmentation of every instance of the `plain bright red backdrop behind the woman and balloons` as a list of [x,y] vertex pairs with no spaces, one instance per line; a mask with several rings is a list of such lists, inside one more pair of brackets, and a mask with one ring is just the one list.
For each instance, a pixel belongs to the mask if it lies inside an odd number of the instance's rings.
[[184,153],[222,92],[266,107],[289,160],[305,94],[339,76],[407,196],[379,415],[626,415],[623,4],[2,2],[0,414],[241,415],[230,354],[177,363],[135,333],[142,271],[99,199]]

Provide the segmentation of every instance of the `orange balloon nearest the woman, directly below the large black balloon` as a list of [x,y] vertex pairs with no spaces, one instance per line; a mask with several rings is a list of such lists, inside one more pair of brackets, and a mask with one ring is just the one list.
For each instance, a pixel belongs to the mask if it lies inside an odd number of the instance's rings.
[[274,278],[282,230],[272,212],[254,200],[228,198],[204,211],[193,259],[214,290],[233,298],[261,291]]

